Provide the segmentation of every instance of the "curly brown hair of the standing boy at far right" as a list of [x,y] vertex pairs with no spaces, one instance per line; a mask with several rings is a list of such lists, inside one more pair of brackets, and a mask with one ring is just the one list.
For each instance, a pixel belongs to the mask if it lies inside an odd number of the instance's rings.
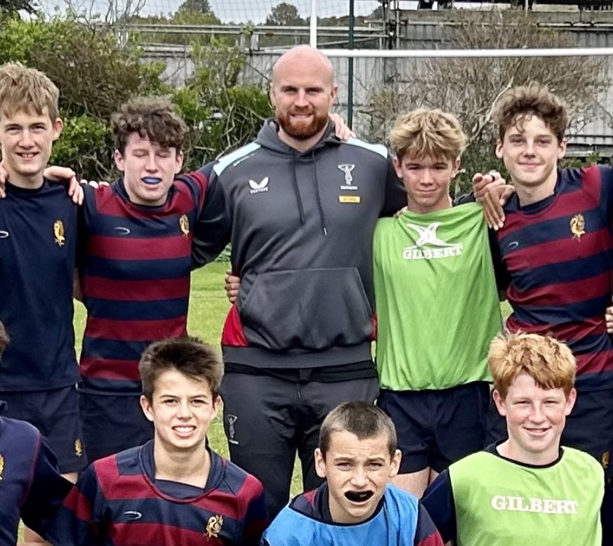
[[492,119],[498,126],[500,140],[511,127],[522,131],[524,121],[536,116],[555,135],[558,142],[564,140],[568,128],[568,111],[565,102],[536,81],[505,91],[494,105]]

